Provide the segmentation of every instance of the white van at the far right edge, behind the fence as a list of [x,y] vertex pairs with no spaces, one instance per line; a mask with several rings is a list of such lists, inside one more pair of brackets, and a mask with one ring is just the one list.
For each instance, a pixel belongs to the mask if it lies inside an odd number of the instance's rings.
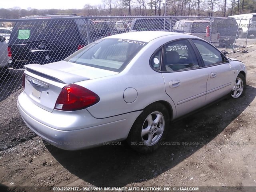
[[236,22],[239,26],[239,38],[245,38],[247,33],[248,35],[256,36],[256,13],[232,15],[229,17],[236,19]]

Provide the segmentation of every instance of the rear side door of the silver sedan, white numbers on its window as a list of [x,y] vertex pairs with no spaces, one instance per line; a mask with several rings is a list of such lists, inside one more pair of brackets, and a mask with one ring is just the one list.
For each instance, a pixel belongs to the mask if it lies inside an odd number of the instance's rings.
[[204,106],[208,73],[200,67],[190,42],[170,42],[162,51],[165,90],[176,106],[176,117]]

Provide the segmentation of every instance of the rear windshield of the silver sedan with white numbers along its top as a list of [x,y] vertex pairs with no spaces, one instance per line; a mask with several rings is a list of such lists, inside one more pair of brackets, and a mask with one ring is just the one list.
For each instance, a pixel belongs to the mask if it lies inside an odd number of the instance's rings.
[[126,39],[101,39],[64,61],[120,72],[146,44]]

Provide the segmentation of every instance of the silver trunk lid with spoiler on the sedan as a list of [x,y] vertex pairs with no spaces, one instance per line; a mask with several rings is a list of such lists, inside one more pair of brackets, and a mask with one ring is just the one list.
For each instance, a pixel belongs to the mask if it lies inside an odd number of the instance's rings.
[[62,88],[67,84],[118,74],[65,61],[25,67],[24,92],[34,104],[49,112],[53,111]]

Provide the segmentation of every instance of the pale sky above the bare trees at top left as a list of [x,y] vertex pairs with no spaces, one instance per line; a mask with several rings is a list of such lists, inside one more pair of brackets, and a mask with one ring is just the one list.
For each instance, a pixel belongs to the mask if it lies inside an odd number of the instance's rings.
[[0,8],[82,9],[85,4],[98,5],[101,0],[1,0]]

